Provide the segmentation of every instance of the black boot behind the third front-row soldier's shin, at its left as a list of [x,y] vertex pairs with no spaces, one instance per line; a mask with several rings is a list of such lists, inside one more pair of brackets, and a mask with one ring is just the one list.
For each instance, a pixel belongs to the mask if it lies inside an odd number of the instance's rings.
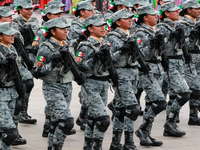
[[88,109],[86,107],[82,106],[79,117],[76,120],[76,124],[78,126],[80,126],[80,129],[83,130],[83,131],[85,130],[85,127],[86,127],[87,112],[88,112]]

